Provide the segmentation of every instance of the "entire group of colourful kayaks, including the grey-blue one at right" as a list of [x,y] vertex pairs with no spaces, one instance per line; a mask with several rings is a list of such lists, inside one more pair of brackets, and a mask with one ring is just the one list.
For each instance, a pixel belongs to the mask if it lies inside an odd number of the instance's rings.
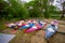
[[12,24],[6,24],[5,26],[13,28],[13,29],[25,29],[24,32],[28,33],[28,32],[32,32],[39,29],[44,28],[44,26],[47,26],[46,28],[46,39],[49,39],[51,35],[53,35],[56,31],[57,31],[57,25],[58,22],[52,20],[51,24],[47,24],[47,20],[39,20],[39,19],[27,19],[27,20],[20,20],[16,23],[12,23]]

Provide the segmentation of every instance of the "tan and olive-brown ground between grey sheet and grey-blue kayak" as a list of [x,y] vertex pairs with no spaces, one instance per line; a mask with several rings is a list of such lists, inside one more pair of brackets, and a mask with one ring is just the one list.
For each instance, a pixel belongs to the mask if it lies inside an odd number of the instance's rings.
[[39,30],[32,34],[20,32],[10,43],[47,43],[43,30]]

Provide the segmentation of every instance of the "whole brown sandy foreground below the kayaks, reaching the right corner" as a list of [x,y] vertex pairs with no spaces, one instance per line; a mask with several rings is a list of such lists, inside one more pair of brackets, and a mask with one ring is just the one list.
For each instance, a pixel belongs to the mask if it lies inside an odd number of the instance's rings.
[[47,42],[44,31],[39,30],[35,34],[21,33],[16,35],[10,43],[65,43],[65,34],[56,33]]

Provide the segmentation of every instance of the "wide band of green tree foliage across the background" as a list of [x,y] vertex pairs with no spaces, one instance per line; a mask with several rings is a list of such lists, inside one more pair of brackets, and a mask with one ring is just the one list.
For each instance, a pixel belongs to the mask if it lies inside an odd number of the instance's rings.
[[54,5],[50,5],[49,0],[34,0],[25,4],[21,0],[0,1],[0,18],[50,18],[54,14],[60,14],[60,11],[56,11]]

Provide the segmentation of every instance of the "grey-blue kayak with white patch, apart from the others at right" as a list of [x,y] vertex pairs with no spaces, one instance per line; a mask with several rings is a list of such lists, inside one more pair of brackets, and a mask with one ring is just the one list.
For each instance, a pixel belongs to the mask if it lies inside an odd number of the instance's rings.
[[57,31],[57,26],[49,25],[46,29],[46,39],[50,39]]

